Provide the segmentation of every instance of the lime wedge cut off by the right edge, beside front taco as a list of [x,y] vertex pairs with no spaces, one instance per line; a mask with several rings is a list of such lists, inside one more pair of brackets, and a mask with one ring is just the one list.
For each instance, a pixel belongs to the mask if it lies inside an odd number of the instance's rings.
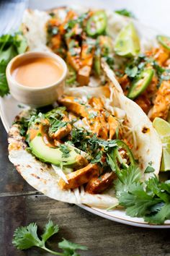
[[153,127],[158,132],[163,146],[160,171],[170,171],[170,124],[164,119],[156,117],[153,120]]

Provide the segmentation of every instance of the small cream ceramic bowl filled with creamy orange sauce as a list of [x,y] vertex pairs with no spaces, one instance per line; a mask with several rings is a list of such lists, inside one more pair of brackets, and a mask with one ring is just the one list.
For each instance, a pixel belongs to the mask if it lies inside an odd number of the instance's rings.
[[11,95],[32,107],[52,104],[61,97],[66,74],[66,62],[50,52],[20,54],[6,67]]

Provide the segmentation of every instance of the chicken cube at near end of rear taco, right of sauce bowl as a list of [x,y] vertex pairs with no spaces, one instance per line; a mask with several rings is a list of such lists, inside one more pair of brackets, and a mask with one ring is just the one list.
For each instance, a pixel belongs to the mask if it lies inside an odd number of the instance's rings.
[[91,67],[84,66],[81,67],[77,73],[77,82],[81,86],[89,84],[89,77],[90,77]]

